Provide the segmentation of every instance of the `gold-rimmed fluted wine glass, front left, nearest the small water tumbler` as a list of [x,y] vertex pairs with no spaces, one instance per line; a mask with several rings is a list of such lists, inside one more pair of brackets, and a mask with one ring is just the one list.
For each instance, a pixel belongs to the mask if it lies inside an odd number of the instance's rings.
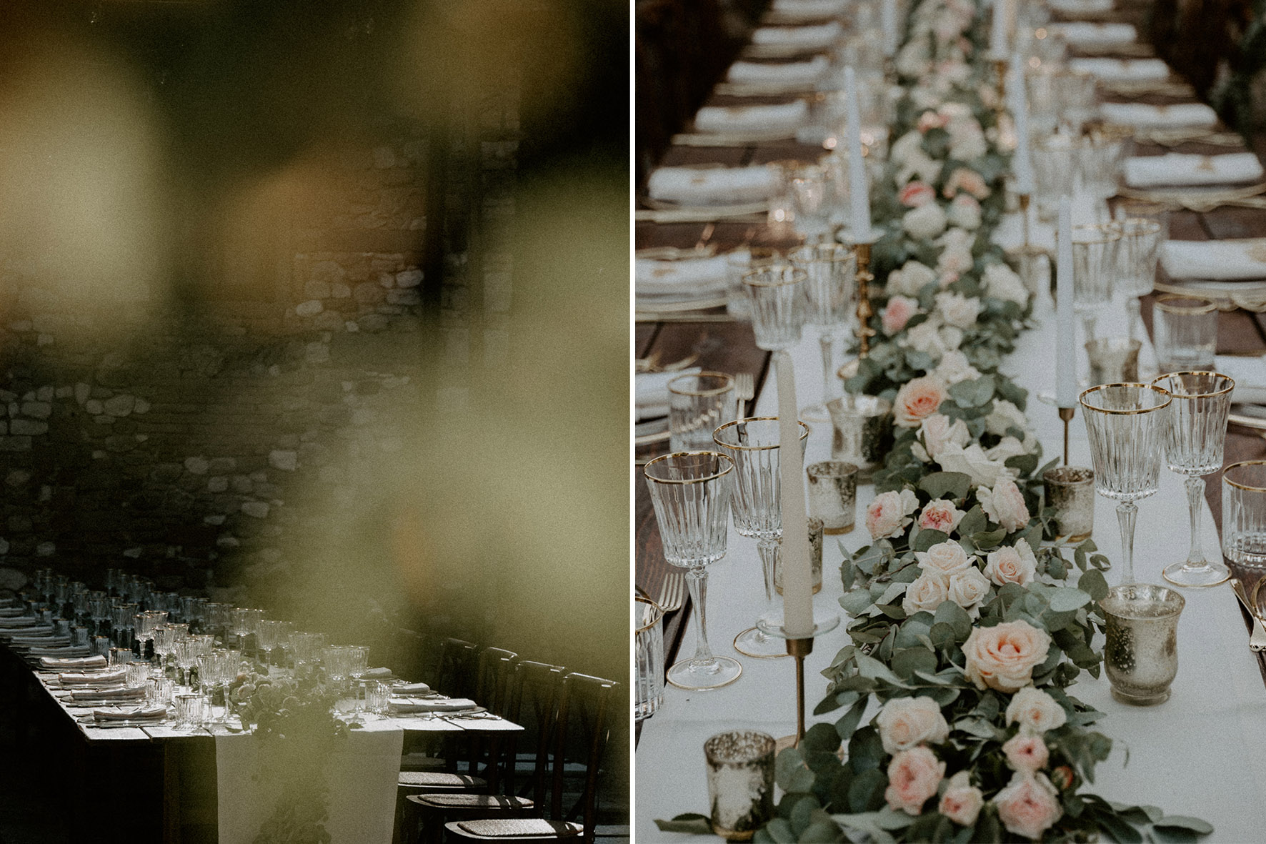
[[663,558],[686,569],[695,608],[695,655],[667,674],[680,688],[720,688],[743,673],[738,660],[715,656],[708,646],[708,566],[725,556],[733,471],[734,461],[715,451],[679,451],[656,457],[643,469]]

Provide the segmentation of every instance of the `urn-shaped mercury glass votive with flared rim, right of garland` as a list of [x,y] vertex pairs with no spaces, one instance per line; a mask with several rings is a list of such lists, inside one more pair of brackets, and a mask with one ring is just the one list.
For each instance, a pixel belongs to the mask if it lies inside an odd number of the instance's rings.
[[1179,615],[1186,599],[1176,591],[1125,583],[1099,602],[1108,620],[1104,668],[1112,696],[1122,703],[1155,706],[1170,698],[1179,672]]

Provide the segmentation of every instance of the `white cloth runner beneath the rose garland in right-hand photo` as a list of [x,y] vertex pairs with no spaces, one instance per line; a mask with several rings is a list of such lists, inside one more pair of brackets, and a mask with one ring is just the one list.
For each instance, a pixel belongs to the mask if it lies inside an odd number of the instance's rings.
[[[1055,390],[1053,307],[1050,298],[1039,303],[1039,328],[1025,332],[1017,351],[1005,361],[1004,371],[1031,392],[1029,418],[1041,438],[1047,459],[1062,442],[1062,425],[1053,407],[1039,403],[1036,393]],[[1123,305],[1099,318],[1099,335],[1124,333]],[[822,364],[817,337],[805,332],[794,352],[800,406],[817,400],[820,392]],[[1155,370],[1150,348],[1142,355],[1144,370]],[[1080,364],[1085,366],[1084,360]],[[771,375],[772,381],[772,375]],[[776,414],[775,384],[761,393],[758,414]],[[1071,460],[1090,465],[1085,423],[1081,412],[1071,426]],[[805,463],[829,459],[828,425],[814,425]],[[1220,483],[1218,475],[1206,478]],[[870,542],[863,526],[866,506],[874,499],[870,485],[858,488],[857,528],[842,539],[853,551]],[[1120,539],[1112,502],[1100,498],[1095,511],[1094,539],[1114,561],[1120,559]],[[1204,512],[1205,553],[1217,558],[1218,539],[1208,506]],[[814,612],[839,613],[842,589],[838,564],[842,553],[825,537],[823,563],[824,588],[815,596]],[[1188,508],[1182,480],[1162,470],[1160,492],[1139,502],[1134,540],[1134,570],[1139,580],[1161,582],[1161,568],[1185,558],[1188,547]],[[1109,573],[1110,584],[1119,574]],[[638,841],[681,841],[687,835],[661,833],[655,819],[682,812],[708,812],[708,787],[703,754],[704,741],[725,730],[756,729],[774,736],[795,730],[795,674],[790,658],[748,659],[739,656],[732,640],[751,626],[758,611],[762,591],[756,542],[734,532],[730,526],[729,553],[711,569],[708,592],[709,640],[718,654],[737,656],[743,675],[729,687],[713,692],[685,692],[668,687],[663,707],[642,727],[637,748]],[[1186,608],[1179,623],[1179,674],[1172,697],[1156,707],[1137,708],[1118,703],[1109,694],[1106,677],[1094,679],[1082,673],[1069,692],[1106,716],[1098,730],[1113,739],[1112,757],[1096,770],[1090,787],[1108,800],[1148,803],[1169,814],[1204,817],[1217,828],[1206,841],[1262,840],[1266,829],[1266,686],[1257,662],[1248,650],[1236,599],[1227,585],[1213,589],[1185,589]],[[833,722],[837,711],[814,719],[812,711],[824,692],[820,672],[847,644],[841,626],[814,644],[805,660],[809,721]],[[1096,637],[1096,646],[1101,646]],[[686,634],[681,655],[694,651],[694,629]],[[874,712],[868,712],[870,719]],[[1125,764],[1127,751],[1129,764]],[[780,792],[781,793],[781,792]],[[714,838],[696,836],[700,840]]]

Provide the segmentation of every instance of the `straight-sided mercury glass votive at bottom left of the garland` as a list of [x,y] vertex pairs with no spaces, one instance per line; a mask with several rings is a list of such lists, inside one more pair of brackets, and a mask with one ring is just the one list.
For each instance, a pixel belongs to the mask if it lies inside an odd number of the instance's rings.
[[774,817],[774,736],[755,730],[714,735],[704,743],[713,833],[749,841]]

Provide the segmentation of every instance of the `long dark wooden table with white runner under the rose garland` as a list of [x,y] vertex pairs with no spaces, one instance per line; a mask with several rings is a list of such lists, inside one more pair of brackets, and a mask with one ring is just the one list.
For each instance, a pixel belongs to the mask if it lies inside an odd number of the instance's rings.
[[[1137,22],[1138,15],[1133,19]],[[1131,54],[1139,54],[1136,44]],[[1131,98],[1109,95],[1109,100]],[[1190,98],[1143,95],[1142,101],[1179,103]],[[734,104],[732,98],[713,96],[714,105]],[[1255,138],[1255,151],[1261,155],[1261,138]],[[1160,155],[1167,151],[1201,155],[1228,152],[1224,146],[1184,143],[1166,148],[1138,143],[1134,155]],[[794,141],[768,142],[748,147],[675,146],[661,165],[724,163],[729,166],[801,158],[812,161],[820,150],[796,144]],[[1172,240],[1219,240],[1250,237],[1266,231],[1266,210],[1220,207],[1208,212],[1177,210],[1170,215]],[[720,250],[742,241],[767,243],[779,237],[766,227],[751,223],[719,222],[710,229],[705,223],[637,224],[638,248],[675,246],[690,247],[701,241]],[[774,243],[779,245],[779,243]],[[1171,280],[1158,270],[1157,281]],[[1114,317],[1100,321],[1101,336],[1124,333],[1122,303],[1112,310]],[[1151,329],[1151,308],[1144,303],[1143,317]],[[743,323],[717,321],[691,323],[685,317],[671,322],[641,322],[637,326],[639,357],[658,352],[661,361],[674,361],[684,352],[699,352],[698,365],[705,369],[757,374],[758,399],[756,414],[776,414],[776,389],[768,371],[768,356],[753,348],[751,329]],[[1053,390],[1053,307],[1050,297],[1041,297],[1034,307],[1038,326],[1024,332],[1017,350],[1003,365],[1003,371],[1028,388],[1028,416],[1047,459],[1062,441],[1062,427],[1055,409],[1033,399],[1042,390]],[[1112,324],[1115,321],[1115,324]],[[700,342],[699,338],[704,337]],[[820,361],[815,337],[809,329],[794,351],[796,388],[800,404],[809,404],[820,393]],[[1219,314],[1219,354],[1266,354],[1266,319],[1260,313],[1227,309]],[[1143,369],[1155,371],[1150,346],[1143,351]],[[805,464],[829,457],[829,426],[813,425]],[[646,456],[641,454],[639,456]],[[1257,431],[1232,426],[1227,436],[1225,463],[1266,457],[1266,441]],[[1071,461],[1089,465],[1085,426],[1080,412],[1071,426]],[[1217,556],[1220,526],[1214,515],[1220,512],[1219,476],[1206,478],[1204,547]],[[641,475],[636,478],[637,496],[637,583],[649,594],[657,593],[666,566],[660,551],[655,516]],[[815,613],[839,613],[842,587],[838,564],[843,554],[870,542],[861,516],[874,499],[872,487],[858,488],[858,527],[843,536],[827,537],[824,542],[824,588],[814,599]],[[1210,509],[1212,507],[1212,509]],[[1110,502],[1099,499],[1095,512],[1095,541],[1110,559],[1119,560],[1120,545],[1115,512]],[[1188,541],[1186,502],[1181,479],[1162,471],[1160,492],[1139,503],[1136,539],[1136,573],[1141,580],[1160,582],[1160,569],[1185,553]],[[730,527],[727,558],[710,569],[708,593],[709,640],[714,651],[736,656],[730,645],[734,635],[751,626],[761,594],[760,560],[755,541],[739,536]],[[1248,578],[1251,573],[1242,573]],[[1109,583],[1117,582],[1109,574]],[[1110,759],[1099,765],[1094,791],[1109,800],[1160,805],[1166,812],[1194,815],[1210,820],[1213,841],[1260,840],[1266,825],[1266,662],[1256,658],[1247,646],[1247,616],[1241,611],[1225,585],[1213,589],[1185,589],[1186,608],[1179,627],[1179,675],[1174,694],[1166,703],[1151,708],[1129,707],[1114,701],[1105,678],[1093,679],[1082,673],[1081,682],[1070,689],[1086,703],[1106,713],[1098,729],[1114,740]],[[687,627],[689,607],[670,615],[666,641],[670,663],[694,651],[695,637]],[[847,618],[844,618],[847,623]],[[806,660],[806,698],[812,707],[822,700],[825,679],[820,670],[830,664],[834,654],[847,644],[843,625],[814,643]],[[637,748],[638,802],[636,834],[638,840],[684,840],[681,834],[661,833],[655,819],[667,819],[682,812],[706,812],[708,796],[703,755],[704,740],[723,730],[758,729],[775,736],[787,735],[795,726],[794,674],[790,659],[758,660],[739,656],[743,675],[729,687],[713,692],[685,692],[668,687],[665,703],[639,731]],[[867,712],[868,719],[874,711]],[[809,722],[834,720],[838,712]],[[1128,759],[1127,759],[1128,758]]]

